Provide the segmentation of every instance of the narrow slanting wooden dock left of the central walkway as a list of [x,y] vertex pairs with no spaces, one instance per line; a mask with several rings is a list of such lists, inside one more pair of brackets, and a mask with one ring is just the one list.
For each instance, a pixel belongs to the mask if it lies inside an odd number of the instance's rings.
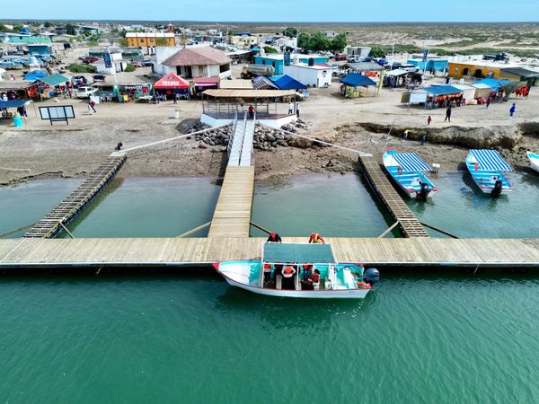
[[69,223],[105,185],[116,175],[126,162],[125,154],[113,153],[102,165],[90,174],[75,191],[60,202],[49,214],[24,234],[26,238],[52,238],[62,230],[62,225]]

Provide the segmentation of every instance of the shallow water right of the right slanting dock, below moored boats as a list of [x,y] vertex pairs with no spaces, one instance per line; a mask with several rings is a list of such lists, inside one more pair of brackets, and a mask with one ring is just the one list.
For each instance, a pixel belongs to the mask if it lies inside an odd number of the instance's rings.
[[499,198],[482,195],[467,171],[430,178],[437,184],[437,194],[427,203],[408,200],[420,221],[465,238],[539,237],[539,175],[509,174],[515,190]]

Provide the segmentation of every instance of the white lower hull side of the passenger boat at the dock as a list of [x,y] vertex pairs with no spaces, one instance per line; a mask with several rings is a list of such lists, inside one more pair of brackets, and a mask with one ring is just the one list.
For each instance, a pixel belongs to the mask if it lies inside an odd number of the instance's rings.
[[[222,273],[221,273],[222,274]],[[303,299],[364,299],[370,289],[337,289],[337,290],[285,290],[270,289],[257,286],[244,285],[222,274],[228,285],[240,287],[255,294],[267,296],[294,297]]]

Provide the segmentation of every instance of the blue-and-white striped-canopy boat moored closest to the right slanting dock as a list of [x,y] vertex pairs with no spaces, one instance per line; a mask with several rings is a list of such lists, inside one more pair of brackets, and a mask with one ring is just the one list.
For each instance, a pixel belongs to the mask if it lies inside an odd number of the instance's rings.
[[424,174],[431,170],[429,164],[417,154],[387,150],[383,160],[385,170],[408,197],[427,200],[437,192],[436,185]]

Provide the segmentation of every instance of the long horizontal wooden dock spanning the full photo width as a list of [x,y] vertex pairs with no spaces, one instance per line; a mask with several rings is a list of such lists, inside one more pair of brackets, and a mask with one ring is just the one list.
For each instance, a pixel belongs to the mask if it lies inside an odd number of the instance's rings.
[[[261,257],[263,238],[5,239],[0,268],[197,267]],[[284,238],[305,242],[304,238]],[[376,267],[539,268],[539,239],[328,238],[340,262]]]

